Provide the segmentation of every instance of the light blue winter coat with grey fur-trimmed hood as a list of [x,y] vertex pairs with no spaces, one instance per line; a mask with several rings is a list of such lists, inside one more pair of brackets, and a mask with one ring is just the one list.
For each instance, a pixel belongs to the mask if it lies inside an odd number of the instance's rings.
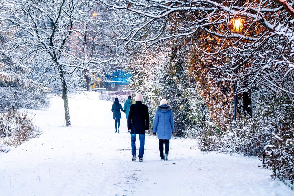
[[153,122],[153,133],[157,133],[158,139],[171,139],[173,132],[174,117],[171,112],[171,106],[157,106]]

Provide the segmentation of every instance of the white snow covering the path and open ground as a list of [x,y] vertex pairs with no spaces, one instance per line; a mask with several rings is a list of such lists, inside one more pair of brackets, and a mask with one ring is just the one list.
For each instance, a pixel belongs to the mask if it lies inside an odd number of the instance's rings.
[[293,195],[258,158],[203,153],[193,139],[173,138],[160,161],[158,139],[146,136],[144,161],[132,161],[124,113],[115,133],[112,102],[88,97],[69,99],[71,127],[60,98],[29,111],[43,134],[0,153],[0,195]]

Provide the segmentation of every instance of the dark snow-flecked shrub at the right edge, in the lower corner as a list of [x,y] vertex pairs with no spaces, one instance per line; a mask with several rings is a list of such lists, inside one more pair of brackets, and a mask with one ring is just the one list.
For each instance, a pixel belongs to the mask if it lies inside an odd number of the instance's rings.
[[273,134],[274,153],[270,155],[266,167],[273,169],[273,177],[278,177],[292,190],[294,189],[294,122],[283,122],[278,133]]

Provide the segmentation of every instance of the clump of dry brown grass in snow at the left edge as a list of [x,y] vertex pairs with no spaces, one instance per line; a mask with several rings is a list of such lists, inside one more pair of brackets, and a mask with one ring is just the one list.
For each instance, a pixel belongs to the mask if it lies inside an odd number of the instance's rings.
[[16,147],[36,137],[37,131],[28,112],[21,114],[15,109],[9,109],[7,114],[0,113],[0,145]]

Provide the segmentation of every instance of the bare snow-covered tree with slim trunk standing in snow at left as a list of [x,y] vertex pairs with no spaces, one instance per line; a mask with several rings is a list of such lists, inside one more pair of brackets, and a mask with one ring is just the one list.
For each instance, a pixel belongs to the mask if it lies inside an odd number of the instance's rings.
[[[40,81],[45,87],[50,83],[61,86],[64,102],[65,122],[69,126],[68,86],[80,88],[78,70],[87,73],[98,72],[103,63],[112,58],[99,54],[91,57],[77,48],[77,36],[102,29],[99,18],[92,13],[97,3],[91,0],[3,0],[0,7],[0,31],[10,37],[2,45],[0,54],[13,59],[13,66],[27,69],[27,74]],[[85,43],[85,42],[84,42]],[[95,52],[94,52],[95,53]]]

